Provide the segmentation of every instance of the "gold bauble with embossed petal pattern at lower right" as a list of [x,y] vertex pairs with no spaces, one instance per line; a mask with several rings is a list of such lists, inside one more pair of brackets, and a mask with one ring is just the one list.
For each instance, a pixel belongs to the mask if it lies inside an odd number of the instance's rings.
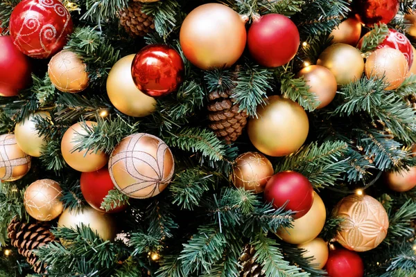
[[336,240],[346,249],[357,252],[374,249],[387,235],[388,215],[383,205],[369,195],[344,197],[333,214],[344,218]]

